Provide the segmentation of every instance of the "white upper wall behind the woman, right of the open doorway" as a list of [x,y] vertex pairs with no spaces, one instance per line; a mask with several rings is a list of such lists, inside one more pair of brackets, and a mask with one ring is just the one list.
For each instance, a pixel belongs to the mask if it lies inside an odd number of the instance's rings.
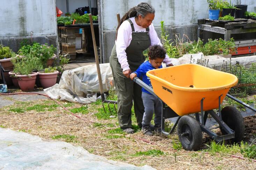
[[[232,0],[235,3],[236,0]],[[248,11],[256,10],[256,0],[241,0],[248,5]],[[115,30],[116,14],[122,17],[131,7],[140,2],[151,2],[155,8],[154,26],[160,26],[164,21],[166,26],[190,25],[197,19],[208,18],[208,3],[206,0],[101,0],[101,16],[104,31]]]

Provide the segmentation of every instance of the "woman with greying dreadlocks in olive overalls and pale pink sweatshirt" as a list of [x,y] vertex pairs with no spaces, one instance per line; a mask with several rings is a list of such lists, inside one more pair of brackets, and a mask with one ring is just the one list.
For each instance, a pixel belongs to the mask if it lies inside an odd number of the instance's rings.
[[[117,31],[116,42],[109,58],[117,91],[118,122],[126,133],[132,129],[132,100],[139,127],[142,127],[144,105],[141,99],[141,87],[133,83],[130,74],[145,61],[143,51],[158,44],[162,46],[152,21],[155,9],[150,3],[140,3],[132,7],[121,19]],[[166,55],[163,60],[167,66],[173,66]],[[154,127],[151,126],[154,130]]]

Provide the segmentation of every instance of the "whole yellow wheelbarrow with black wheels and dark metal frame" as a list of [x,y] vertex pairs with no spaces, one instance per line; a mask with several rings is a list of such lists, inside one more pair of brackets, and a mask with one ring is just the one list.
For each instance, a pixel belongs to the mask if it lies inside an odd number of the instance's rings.
[[[177,126],[178,137],[186,150],[197,150],[202,145],[202,131],[218,141],[231,139],[239,142],[244,135],[244,122],[233,106],[221,110],[227,92],[238,82],[233,74],[213,70],[197,64],[183,64],[147,72],[152,87],[140,79],[134,82],[162,101],[162,133],[171,134]],[[228,95],[242,105],[249,105]],[[219,109],[215,113],[213,109]],[[250,108],[255,111],[254,108]],[[195,119],[189,114],[195,113]],[[199,116],[200,113],[200,116]],[[208,114],[218,123],[222,136],[205,126]],[[178,117],[170,132],[164,130],[164,120]],[[200,118],[201,117],[201,118]],[[216,128],[216,127],[215,127]]]

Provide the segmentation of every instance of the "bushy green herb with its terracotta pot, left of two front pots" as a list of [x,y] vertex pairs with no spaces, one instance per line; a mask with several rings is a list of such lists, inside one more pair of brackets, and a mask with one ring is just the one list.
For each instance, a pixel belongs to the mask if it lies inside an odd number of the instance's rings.
[[36,83],[36,72],[33,70],[42,69],[41,60],[34,56],[31,51],[26,57],[12,59],[14,65],[13,72],[17,77],[18,84],[22,91],[32,91]]

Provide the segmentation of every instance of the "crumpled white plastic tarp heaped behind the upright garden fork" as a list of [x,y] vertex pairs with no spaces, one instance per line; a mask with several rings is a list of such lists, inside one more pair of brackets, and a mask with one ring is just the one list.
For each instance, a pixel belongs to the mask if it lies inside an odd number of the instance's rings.
[[[100,69],[103,90],[106,92],[110,82],[114,84],[112,71],[109,63],[100,64]],[[96,64],[64,71],[59,84],[44,91],[54,99],[81,104],[96,102],[96,93],[100,93]]]

